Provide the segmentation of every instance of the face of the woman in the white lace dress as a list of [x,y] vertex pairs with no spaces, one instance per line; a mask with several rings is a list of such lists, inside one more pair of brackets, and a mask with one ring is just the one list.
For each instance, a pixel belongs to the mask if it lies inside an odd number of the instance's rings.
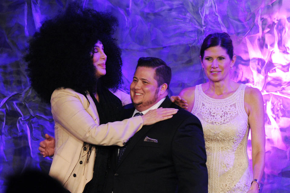
[[230,59],[226,49],[214,46],[205,50],[201,65],[210,81],[219,82],[230,78],[230,67],[233,67],[235,61],[236,56]]

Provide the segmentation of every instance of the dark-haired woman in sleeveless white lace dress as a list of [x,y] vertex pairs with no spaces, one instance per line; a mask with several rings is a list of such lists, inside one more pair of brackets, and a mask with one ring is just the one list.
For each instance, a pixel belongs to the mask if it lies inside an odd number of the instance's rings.
[[[173,96],[196,115],[205,137],[208,192],[258,192],[265,165],[264,104],[260,91],[230,79],[236,60],[227,33],[208,35],[200,50],[208,82]],[[247,155],[251,130],[253,170]]]

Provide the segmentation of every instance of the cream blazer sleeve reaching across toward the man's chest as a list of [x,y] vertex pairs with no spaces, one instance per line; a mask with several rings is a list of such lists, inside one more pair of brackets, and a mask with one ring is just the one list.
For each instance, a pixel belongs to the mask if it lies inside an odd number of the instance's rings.
[[98,119],[97,112],[90,115],[89,108],[84,107],[88,103],[85,96],[70,89],[54,91],[50,102],[54,121],[76,138],[90,144],[123,146],[143,126],[140,116],[99,125],[95,121]]

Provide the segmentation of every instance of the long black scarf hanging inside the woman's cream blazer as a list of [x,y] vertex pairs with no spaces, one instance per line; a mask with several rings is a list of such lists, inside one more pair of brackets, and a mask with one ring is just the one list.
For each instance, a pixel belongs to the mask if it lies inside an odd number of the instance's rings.
[[[108,122],[119,121],[118,118],[122,108],[121,100],[107,88],[103,87],[100,81],[98,81],[97,84],[97,93],[99,96],[99,102],[93,94],[90,95],[97,107],[100,125]],[[104,191],[109,158],[113,153],[114,147],[98,146],[87,143],[84,143],[84,146],[89,147],[87,161],[89,160],[92,147],[96,148],[96,154],[93,178],[85,185],[83,193],[101,193]]]

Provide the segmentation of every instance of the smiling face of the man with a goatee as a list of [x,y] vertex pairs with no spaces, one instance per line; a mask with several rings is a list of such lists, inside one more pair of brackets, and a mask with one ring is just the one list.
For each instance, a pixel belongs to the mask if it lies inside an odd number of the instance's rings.
[[130,85],[130,96],[134,107],[140,112],[149,109],[163,98],[160,95],[162,85],[158,87],[154,76],[154,68],[140,66],[135,71]]

